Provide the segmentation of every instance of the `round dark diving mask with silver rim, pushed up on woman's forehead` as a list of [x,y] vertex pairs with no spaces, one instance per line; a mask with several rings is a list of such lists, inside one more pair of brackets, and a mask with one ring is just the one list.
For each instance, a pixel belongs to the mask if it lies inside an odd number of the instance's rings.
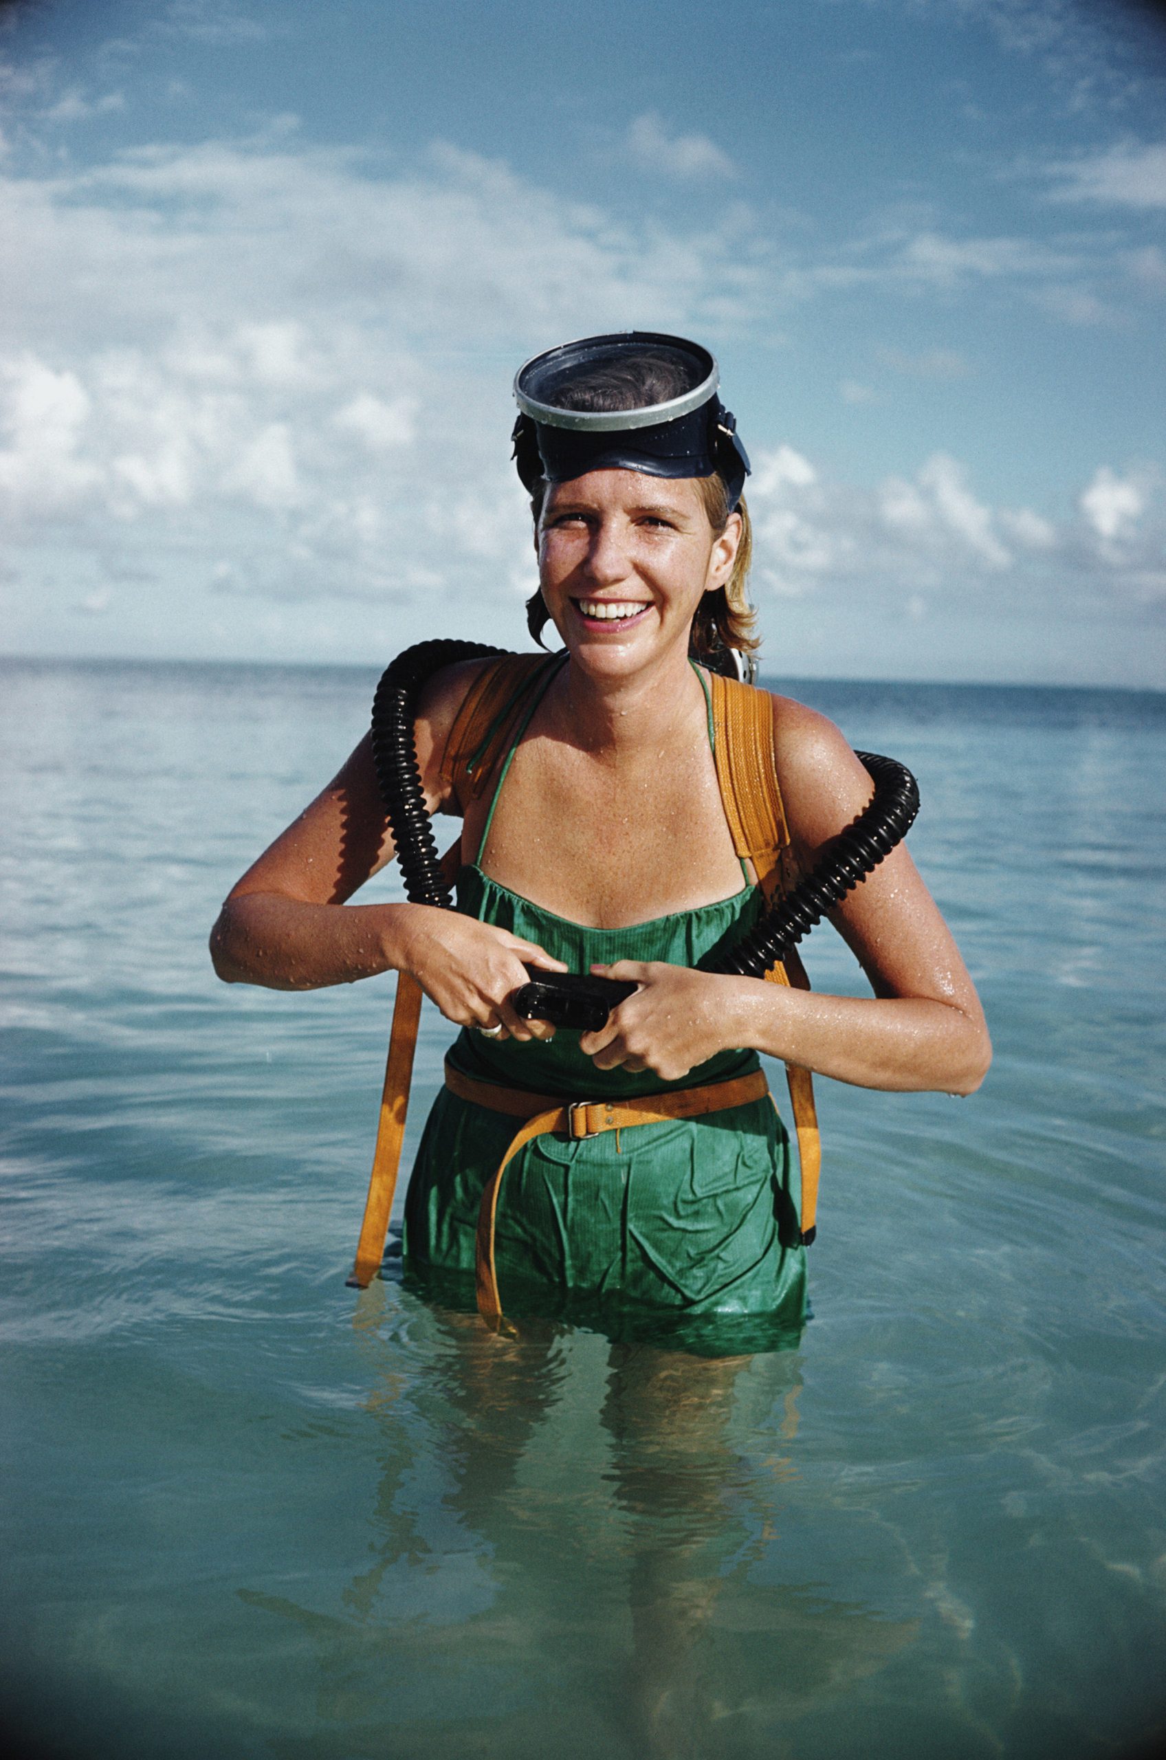
[[583,336],[535,354],[514,375],[514,463],[527,489],[588,470],[712,477],[736,507],[749,456],[717,396],[708,348],[659,331]]

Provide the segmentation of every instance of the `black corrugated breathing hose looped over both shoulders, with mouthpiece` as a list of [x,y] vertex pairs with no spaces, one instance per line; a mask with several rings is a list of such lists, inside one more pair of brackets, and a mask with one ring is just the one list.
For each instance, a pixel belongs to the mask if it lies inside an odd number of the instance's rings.
[[[442,667],[461,660],[488,660],[507,653],[486,642],[428,641],[407,648],[393,660],[377,686],[372,709],[372,757],[377,783],[396,843],[396,855],[412,905],[453,908],[453,894],[440,871],[430,813],[421,790],[421,769],[414,741],[417,695]],[[708,662],[706,662],[708,664]],[[856,752],[874,781],[874,797],[833,840],[830,852],[812,871],[775,903],[727,954],[708,966],[710,972],[761,979],[777,964],[815,922],[833,910],[860,880],[872,873],[884,855],[907,836],[919,811],[919,788],[911,771],[895,759],[875,752]],[[558,975],[541,973],[541,991],[548,982],[564,984]],[[576,986],[579,979],[574,980]],[[592,986],[595,979],[588,980]],[[606,980],[613,982],[613,980]],[[624,993],[634,986],[622,986]],[[565,994],[572,991],[565,984]],[[521,993],[520,993],[521,994]],[[618,998],[613,994],[613,1001]],[[564,1001],[564,1005],[567,1005]],[[520,1010],[521,1012],[521,1010]],[[604,1008],[599,1024],[606,1019]],[[555,1019],[542,1012],[541,1019]],[[558,1021],[557,1024],[578,1024]]]

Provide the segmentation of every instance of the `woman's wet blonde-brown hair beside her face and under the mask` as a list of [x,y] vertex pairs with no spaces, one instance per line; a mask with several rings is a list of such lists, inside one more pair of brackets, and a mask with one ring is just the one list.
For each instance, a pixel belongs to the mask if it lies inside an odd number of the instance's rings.
[[[564,387],[558,403],[567,410],[639,410],[650,403],[666,403],[689,389],[687,377],[680,363],[673,363],[660,354],[624,356],[618,361],[601,363],[590,371],[583,371]],[[701,491],[701,502],[708,514],[713,537],[720,537],[729,523],[729,489],[720,473],[692,479]],[[542,516],[542,503],[550,484],[542,479],[530,496],[530,512],[537,526]],[[750,653],[761,646],[754,635],[757,614],[749,602],[749,565],[752,561],[754,535],[749,519],[749,507],[742,498],[736,503],[742,516],[742,542],[733,563],[733,574],[724,586],[705,593],[692,618],[690,648],[697,660],[706,658],[719,648],[740,648]],[[542,630],[550,621],[550,611],[537,591],[527,600],[527,628],[535,642],[542,646]]]

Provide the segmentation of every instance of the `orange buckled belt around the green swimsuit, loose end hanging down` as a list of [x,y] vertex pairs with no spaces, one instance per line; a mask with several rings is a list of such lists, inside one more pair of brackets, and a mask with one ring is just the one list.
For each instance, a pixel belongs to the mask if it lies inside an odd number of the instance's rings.
[[733,1105],[747,1105],[761,1100],[770,1091],[763,1070],[752,1075],[738,1075],[731,1082],[710,1082],[706,1088],[673,1088],[668,1093],[641,1095],[636,1100],[574,1100],[564,1102],[553,1095],[532,1095],[521,1088],[498,1088],[493,1082],[477,1082],[446,1060],[446,1088],[460,1100],[472,1100],[474,1105],[488,1107],[491,1112],[506,1112],[509,1118],[525,1119],[518,1126],[506,1155],[486,1181],[477,1209],[477,1250],[474,1278],[477,1285],[477,1311],[484,1320],[502,1318],[498,1299],[498,1274],[493,1258],[495,1216],[498,1211],[498,1188],[502,1174],[534,1137],[548,1132],[560,1132],[576,1142],[583,1137],[599,1137],[606,1130],[631,1130],[634,1125],[662,1125],[673,1118],[705,1118],[708,1112],[726,1112]]

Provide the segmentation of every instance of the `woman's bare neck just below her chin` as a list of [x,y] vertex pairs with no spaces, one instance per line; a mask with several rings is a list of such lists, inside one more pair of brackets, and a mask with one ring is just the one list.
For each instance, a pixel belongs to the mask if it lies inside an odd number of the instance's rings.
[[555,685],[571,743],[594,755],[653,753],[705,718],[705,692],[680,648],[625,678],[595,678],[569,660]]

